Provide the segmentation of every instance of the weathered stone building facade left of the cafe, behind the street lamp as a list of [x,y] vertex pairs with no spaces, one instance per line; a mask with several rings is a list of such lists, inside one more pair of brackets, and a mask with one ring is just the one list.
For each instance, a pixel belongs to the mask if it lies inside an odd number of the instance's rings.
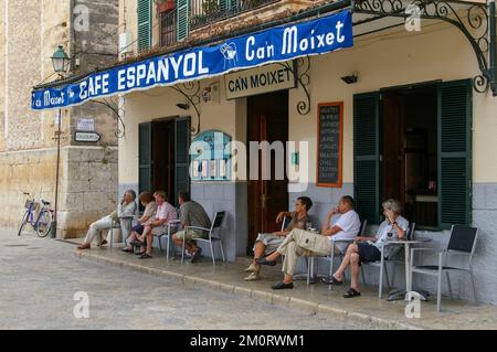
[[[70,74],[117,57],[118,1],[0,2],[0,214],[17,227],[29,192],[54,205],[57,110],[31,109],[32,87],[57,79],[51,56],[59,45],[73,58]],[[117,118],[102,104],[63,109],[59,237],[83,234],[117,199]],[[77,120],[94,120],[97,142],[76,142]]]

